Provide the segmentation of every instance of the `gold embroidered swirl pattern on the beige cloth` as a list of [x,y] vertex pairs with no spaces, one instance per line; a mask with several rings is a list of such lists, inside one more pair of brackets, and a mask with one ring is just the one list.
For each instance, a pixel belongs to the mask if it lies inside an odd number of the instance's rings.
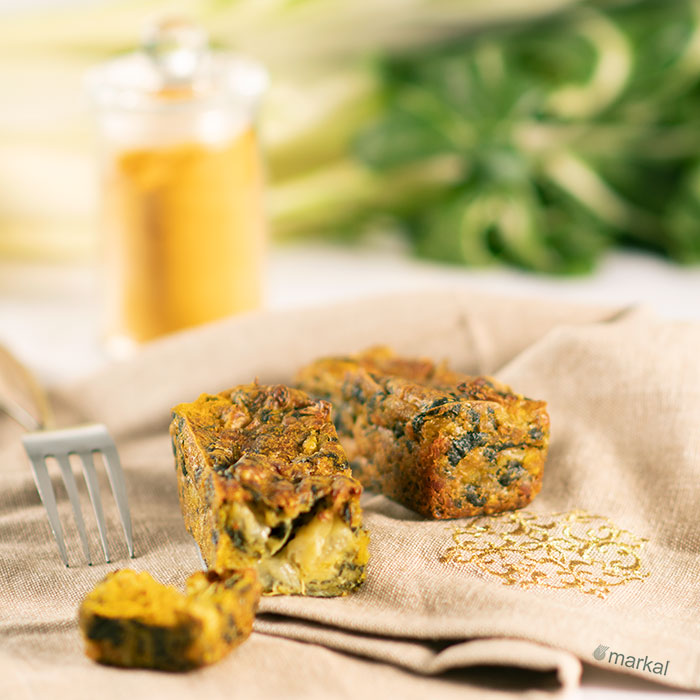
[[575,588],[605,598],[649,575],[641,559],[647,540],[583,510],[482,516],[452,538],[440,561],[472,565],[506,586]]

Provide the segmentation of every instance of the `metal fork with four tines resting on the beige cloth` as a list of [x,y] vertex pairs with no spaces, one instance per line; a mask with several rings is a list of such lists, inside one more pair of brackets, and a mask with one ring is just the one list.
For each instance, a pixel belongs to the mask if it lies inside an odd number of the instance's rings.
[[[0,350],[2,350],[0,348]],[[46,512],[49,516],[49,525],[51,531],[56,538],[58,551],[61,555],[63,563],[68,566],[68,553],[63,538],[63,528],[58,517],[58,507],[56,505],[56,496],[54,494],[51,478],[49,477],[48,468],[46,465],[47,458],[53,458],[58,462],[63,477],[63,483],[68,493],[68,499],[73,508],[73,517],[75,525],[80,535],[85,558],[90,566],[92,566],[92,558],[90,556],[90,547],[88,546],[87,532],[85,530],[85,522],[80,509],[80,499],[78,497],[78,489],[76,487],[75,477],[70,465],[70,456],[77,455],[80,457],[80,462],[83,467],[83,475],[87,484],[92,507],[95,511],[95,519],[97,520],[97,529],[100,533],[102,543],[102,551],[104,552],[105,561],[110,561],[109,546],[107,544],[107,533],[104,513],[102,510],[102,500],[100,499],[100,491],[97,484],[97,473],[95,471],[94,456],[99,454],[102,456],[109,483],[112,487],[114,500],[119,511],[126,544],[129,550],[129,555],[134,556],[134,542],[131,530],[131,516],[129,514],[129,503],[126,495],[126,486],[124,484],[124,474],[122,472],[121,463],[119,462],[119,454],[114,441],[107,432],[107,428],[102,424],[91,424],[76,426],[72,428],[63,428],[57,430],[49,430],[51,424],[51,413],[48,406],[46,396],[41,391],[39,385],[34,378],[29,374],[27,369],[15,360],[7,351],[0,352],[2,359],[6,364],[10,364],[11,368],[22,376],[25,386],[32,395],[42,420],[38,421],[29,411],[23,408],[18,402],[13,399],[0,395],[0,409],[7,415],[19,423],[25,430],[29,431],[22,436],[22,444],[29,456],[36,482],[37,490],[41,498]]]

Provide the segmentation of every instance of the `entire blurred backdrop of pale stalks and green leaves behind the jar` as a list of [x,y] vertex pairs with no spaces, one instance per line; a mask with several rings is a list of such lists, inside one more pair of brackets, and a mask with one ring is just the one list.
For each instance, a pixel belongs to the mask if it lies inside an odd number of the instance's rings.
[[88,261],[85,70],[183,14],[269,68],[278,241],[583,273],[614,246],[700,260],[700,2],[147,0],[0,22],[0,259]]

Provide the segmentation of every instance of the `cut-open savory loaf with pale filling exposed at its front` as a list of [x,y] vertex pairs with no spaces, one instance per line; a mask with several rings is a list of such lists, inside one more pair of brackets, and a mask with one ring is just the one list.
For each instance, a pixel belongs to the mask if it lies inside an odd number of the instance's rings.
[[257,383],[173,409],[185,525],[211,568],[252,566],[267,594],[343,595],[362,582],[362,486],[330,411]]

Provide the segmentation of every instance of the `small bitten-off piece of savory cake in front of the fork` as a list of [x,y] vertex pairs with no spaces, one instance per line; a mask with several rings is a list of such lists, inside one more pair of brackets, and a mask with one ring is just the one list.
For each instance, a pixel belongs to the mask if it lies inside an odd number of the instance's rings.
[[204,666],[248,638],[259,600],[252,569],[198,572],[187,579],[186,595],[146,572],[115,571],[80,606],[85,653],[130,668]]

